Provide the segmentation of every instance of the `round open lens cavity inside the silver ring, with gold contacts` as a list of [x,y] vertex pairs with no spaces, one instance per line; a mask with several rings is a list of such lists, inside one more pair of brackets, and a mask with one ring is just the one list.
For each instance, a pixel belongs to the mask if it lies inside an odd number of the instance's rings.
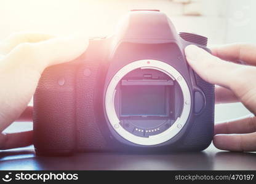
[[164,72],[135,69],[122,77],[116,87],[119,124],[135,136],[160,134],[180,115],[181,93],[177,82]]

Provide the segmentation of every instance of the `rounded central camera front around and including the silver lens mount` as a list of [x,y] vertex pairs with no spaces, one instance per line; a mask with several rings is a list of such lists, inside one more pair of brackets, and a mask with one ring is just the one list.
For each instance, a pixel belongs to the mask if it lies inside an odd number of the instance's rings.
[[106,75],[103,105],[119,142],[165,147],[185,133],[193,118],[193,88],[183,59],[176,43],[118,46]]

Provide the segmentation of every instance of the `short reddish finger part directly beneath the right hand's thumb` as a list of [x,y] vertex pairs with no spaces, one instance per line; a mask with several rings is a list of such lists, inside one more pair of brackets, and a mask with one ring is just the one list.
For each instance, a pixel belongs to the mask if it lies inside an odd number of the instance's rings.
[[215,104],[239,102],[238,97],[233,91],[223,88],[222,86],[215,87]]

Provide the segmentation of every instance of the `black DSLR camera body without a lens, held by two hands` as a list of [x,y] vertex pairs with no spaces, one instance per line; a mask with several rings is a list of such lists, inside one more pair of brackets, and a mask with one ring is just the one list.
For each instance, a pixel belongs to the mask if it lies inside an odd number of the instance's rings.
[[185,59],[207,38],[177,34],[158,10],[132,10],[111,37],[48,67],[34,94],[38,155],[201,151],[214,134],[214,85]]

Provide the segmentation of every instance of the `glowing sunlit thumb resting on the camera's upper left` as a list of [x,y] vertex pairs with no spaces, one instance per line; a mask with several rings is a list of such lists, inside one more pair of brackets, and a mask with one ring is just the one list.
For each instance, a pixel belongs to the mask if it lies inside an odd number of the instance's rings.
[[54,37],[41,42],[20,44],[6,56],[5,60],[6,63],[16,61],[16,65],[22,64],[41,73],[50,65],[77,58],[88,45],[89,40],[81,35]]

